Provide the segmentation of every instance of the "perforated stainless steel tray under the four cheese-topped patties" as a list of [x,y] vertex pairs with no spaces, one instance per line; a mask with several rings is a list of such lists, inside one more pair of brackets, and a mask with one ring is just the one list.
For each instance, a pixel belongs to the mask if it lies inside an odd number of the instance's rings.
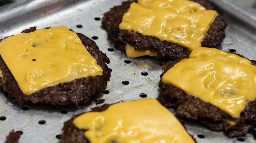
[[[231,0],[226,0],[231,1]],[[219,6],[219,11],[226,15],[229,26],[226,29],[226,39],[218,46],[219,49],[228,51],[236,49],[237,53],[243,54],[250,59],[256,59],[256,34],[255,26],[250,22],[255,20],[255,14],[247,12],[248,8],[240,7],[240,4],[233,2],[237,12],[230,14],[231,4],[224,3],[224,0],[213,1]],[[222,7],[218,3],[226,6]],[[114,5],[121,4],[120,0],[34,0],[27,1],[20,6],[17,3],[4,7],[0,10],[0,38],[19,34],[23,29],[37,26],[45,28],[49,26],[66,25],[75,32],[80,32],[88,37],[97,36],[95,40],[100,50],[106,53],[111,63],[108,65],[111,72],[110,82],[106,90],[109,94],[100,94],[105,103],[115,103],[118,101],[137,100],[141,97],[140,93],[146,93],[147,97],[156,98],[159,94],[158,82],[160,80],[161,68],[157,61],[148,57],[127,58],[123,52],[115,49],[110,52],[107,49],[114,47],[107,39],[107,32],[101,28],[101,21],[94,18],[102,18],[103,13],[108,11]],[[37,9],[37,10],[36,10]],[[243,12],[247,14],[246,21],[241,19]],[[77,24],[82,24],[82,28],[77,28]],[[124,60],[131,60],[130,64],[125,64]],[[142,63],[148,65],[143,67]],[[147,76],[140,73],[148,72]],[[129,81],[128,85],[123,85],[123,80]],[[96,106],[95,103],[86,107],[80,106],[80,109],[74,106],[65,107],[67,114],[61,114],[61,107],[51,105],[28,104],[29,110],[22,110],[17,103],[11,102],[11,99],[1,92],[0,95],[0,117],[5,116],[6,120],[0,120],[0,142],[5,142],[5,135],[8,135],[11,129],[23,132],[19,143],[27,142],[60,142],[56,135],[61,134],[63,123],[73,115],[90,110]],[[175,111],[170,109],[173,113]],[[38,121],[44,119],[45,124],[39,124]],[[239,142],[237,138],[227,138],[223,132],[214,132],[196,122],[185,121],[188,132],[193,135],[199,143],[234,143]],[[198,134],[204,134],[204,138],[197,137]],[[245,142],[254,143],[251,133],[245,137]]]

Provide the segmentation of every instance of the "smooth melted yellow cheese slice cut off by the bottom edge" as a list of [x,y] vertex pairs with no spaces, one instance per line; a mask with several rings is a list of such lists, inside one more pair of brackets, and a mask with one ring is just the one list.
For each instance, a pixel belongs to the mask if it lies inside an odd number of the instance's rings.
[[116,103],[73,120],[91,143],[194,143],[178,119],[152,98]]

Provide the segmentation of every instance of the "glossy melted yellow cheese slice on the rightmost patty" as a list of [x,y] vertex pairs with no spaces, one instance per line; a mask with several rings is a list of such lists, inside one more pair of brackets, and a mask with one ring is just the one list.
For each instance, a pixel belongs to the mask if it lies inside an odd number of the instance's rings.
[[197,48],[163,76],[165,84],[199,97],[239,118],[256,97],[256,66],[245,58],[215,49]]

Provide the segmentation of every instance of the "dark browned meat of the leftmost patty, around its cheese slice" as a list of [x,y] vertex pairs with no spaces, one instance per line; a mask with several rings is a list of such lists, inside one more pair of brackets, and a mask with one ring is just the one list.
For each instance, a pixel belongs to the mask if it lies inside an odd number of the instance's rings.
[[[29,33],[35,30],[36,27],[31,27],[30,29],[22,31],[22,33]],[[13,75],[11,74],[11,71],[8,69],[2,56],[0,56],[0,70],[2,71],[3,75],[0,77],[0,86],[4,88],[4,91],[9,93],[9,97],[14,98],[14,102],[18,102],[20,105],[27,101],[50,103],[53,105],[77,105],[78,103],[90,104],[92,101],[98,100],[96,94],[106,88],[107,82],[110,79],[110,70],[107,66],[107,64],[110,63],[110,60],[106,54],[99,51],[98,46],[93,40],[81,33],[76,34],[86,49],[96,59],[97,64],[102,68],[102,76],[87,77],[75,79],[69,83],[60,83],[52,87],[44,88],[39,92],[28,96],[22,93]],[[3,39],[1,39],[0,42],[2,40]]]

